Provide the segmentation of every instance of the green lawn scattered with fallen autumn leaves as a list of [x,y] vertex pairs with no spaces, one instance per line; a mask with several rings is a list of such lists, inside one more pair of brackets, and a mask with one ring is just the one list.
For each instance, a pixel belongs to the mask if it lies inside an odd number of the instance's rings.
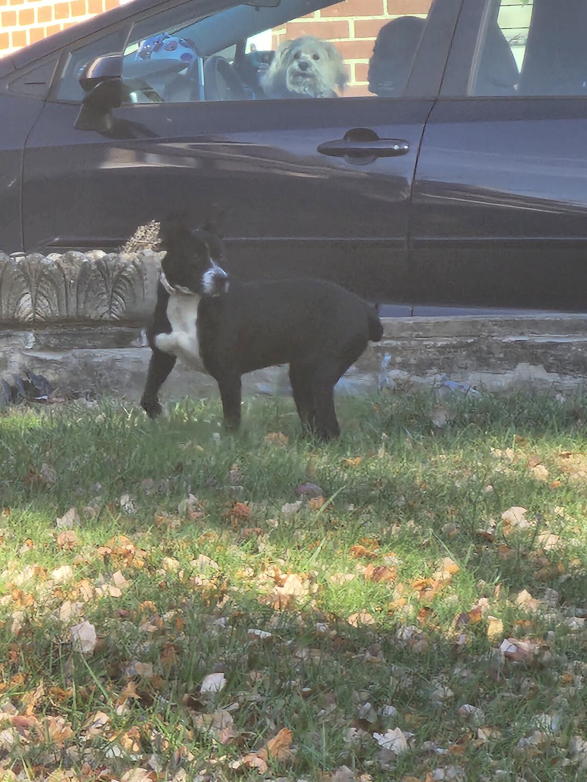
[[582,407],[338,407],[0,416],[6,779],[585,779]]

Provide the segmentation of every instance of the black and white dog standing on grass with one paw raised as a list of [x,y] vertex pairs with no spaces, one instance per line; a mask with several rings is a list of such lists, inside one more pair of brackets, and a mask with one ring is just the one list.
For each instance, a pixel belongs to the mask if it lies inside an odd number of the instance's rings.
[[160,246],[167,252],[148,331],[146,413],[160,414],[160,386],[181,358],[218,382],[225,423],[237,429],[241,375],[289,364],[304,429],[324,440],[337,437],[334,386],[369,339],[383,335],[373,307],[322,280],[229,284],[223,243],[210,226],[192,231],[182,218],[171,218],[161,225]]

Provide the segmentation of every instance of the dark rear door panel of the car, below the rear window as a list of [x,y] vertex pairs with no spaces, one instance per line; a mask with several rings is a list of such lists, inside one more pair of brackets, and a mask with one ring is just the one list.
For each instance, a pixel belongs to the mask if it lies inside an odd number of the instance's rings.
[[437,103],[412,201],[428,303],[585,309],[585,131],[584,99]]

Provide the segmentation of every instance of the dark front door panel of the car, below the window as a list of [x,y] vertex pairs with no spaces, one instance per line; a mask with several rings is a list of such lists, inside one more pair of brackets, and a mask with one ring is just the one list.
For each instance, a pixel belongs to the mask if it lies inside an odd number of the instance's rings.
[[286,101],[279,112],[259,102],[249,113],[238,102],[203,103],[191,134],[189,104],[133,106],[117,110],[119,138],[110,139],[76,131],[77,107],[47,103],[27,144],[25,244],[113,249],[168,210],[185,209],[198,224],[214,203],[225,210],[229,267],[239,277],[310,274],[402,300],[409,197],[431,106],[393,102],[390,126],[389,102],[367,99],[369,127],[405,138],[410,151],[359,167],[317,152],[348,129],[343,100]]

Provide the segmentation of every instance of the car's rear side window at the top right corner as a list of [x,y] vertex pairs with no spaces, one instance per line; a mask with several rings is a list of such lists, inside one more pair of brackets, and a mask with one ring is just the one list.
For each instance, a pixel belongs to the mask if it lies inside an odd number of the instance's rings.
[[470,95],[587,95],[587,4],[495,0]]

